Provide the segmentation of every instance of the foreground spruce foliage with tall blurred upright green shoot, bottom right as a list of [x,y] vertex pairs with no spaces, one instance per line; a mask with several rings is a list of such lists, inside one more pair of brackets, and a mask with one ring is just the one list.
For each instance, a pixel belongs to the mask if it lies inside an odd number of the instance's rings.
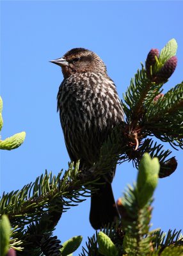
[[157,186],[158,172],[157,159],[145,154],[139,164],[137,184],[128,186],[118,202],[121,223],[104,228],[104,233],[99,232],[89,238],[81,256],[159,256],[168,255],[166,253],[171,252],[170,248],[174,256],[182,255],[183,237],[180,231],[169,230],[167,235],[161,230],[150,231],[152,195]]

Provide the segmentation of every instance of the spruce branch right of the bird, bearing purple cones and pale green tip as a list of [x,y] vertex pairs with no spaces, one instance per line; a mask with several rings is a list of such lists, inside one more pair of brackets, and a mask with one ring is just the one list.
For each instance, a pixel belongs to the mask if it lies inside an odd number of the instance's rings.
[[[183,87],[177,84],[163,95],[163,84],[173,74],[177,61],[175,54],[177,42],[170,40],[161,54],[152,49],[144,68],[138,70],[127,92],[123,95],[122,106],[126,119],[121,129],[113,132],[111,142],[106,141],[101,149],[101,159],[107,163],[132,161],[138,167],[145,152],[158,157],[161,164],[159,177],[167,177],[175,172],[177,161],[168,156],[171,150],[164,150],[163,145],[154,139],[170,143],[173,148],[183,146]],[[160,77],[163,77],[160,81]],[[159,80],[158,80],[158,79]],[[116,140],[117,138],[117,140]]]

